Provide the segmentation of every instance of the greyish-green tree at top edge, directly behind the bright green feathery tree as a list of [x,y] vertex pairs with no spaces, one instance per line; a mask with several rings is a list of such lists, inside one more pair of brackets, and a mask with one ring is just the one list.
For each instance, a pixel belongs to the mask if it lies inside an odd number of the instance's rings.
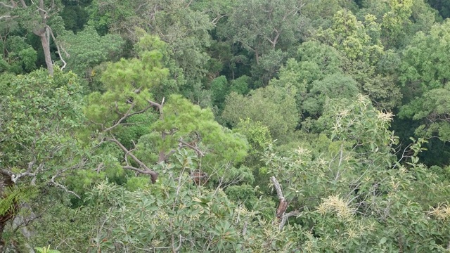
[[157,35],[167,43],[171,57],[183,70],[192,91],[191,87],[200,86],[200,80],[207,74],[209,56],[205,48],[210,46],[209,31],[214,24],[206,13],[194,11],[191,3],[186,0],[93,1],[90,24],[98,30],[114,30],[132,42],[142,37],[135,27]]

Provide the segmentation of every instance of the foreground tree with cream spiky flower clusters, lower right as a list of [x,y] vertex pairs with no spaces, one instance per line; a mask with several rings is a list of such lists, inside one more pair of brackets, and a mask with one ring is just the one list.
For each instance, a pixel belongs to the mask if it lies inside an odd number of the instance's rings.
[[296,226],[302,249],[444,252],[449,227],[438,218],[446,208],[439,202],[449,190],[418,162],[424,141],[397,161],[392,115],[364,96],[327,106],[321,119],[330,127],[314,141],[315,152],[300,146],[279,155],[269,146],[263,158],[281,221],[297,216],[302,224]]

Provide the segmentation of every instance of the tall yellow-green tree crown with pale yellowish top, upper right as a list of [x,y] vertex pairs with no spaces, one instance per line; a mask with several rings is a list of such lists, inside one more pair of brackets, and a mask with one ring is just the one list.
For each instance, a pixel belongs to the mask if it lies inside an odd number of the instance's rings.
[[395,53],[384,51],[381,27],[375,21],[375,15],[367,14],[361,22],[349,11],[340,11],[333,18],[333,25],[319,30],[316,37],[344,56],[340,67],[359,84],[361,93],[368,95],[378,108],[392,110],[401,99],[397,74],[380,66],[389,63],[387,66],[395,69],[398,63],[394,61]]

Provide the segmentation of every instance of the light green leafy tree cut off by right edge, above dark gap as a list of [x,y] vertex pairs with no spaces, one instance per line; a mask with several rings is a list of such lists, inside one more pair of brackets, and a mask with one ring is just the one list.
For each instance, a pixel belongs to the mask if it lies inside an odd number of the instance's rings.
[[418,32],[403,52],[399,79],[404,85],[406,105],[399,115],[418,121],[418,136],[439,136],[448,141],[446,120],[450,70],[444,51],[449,37],[448,21],[432,27],[430,34]]

